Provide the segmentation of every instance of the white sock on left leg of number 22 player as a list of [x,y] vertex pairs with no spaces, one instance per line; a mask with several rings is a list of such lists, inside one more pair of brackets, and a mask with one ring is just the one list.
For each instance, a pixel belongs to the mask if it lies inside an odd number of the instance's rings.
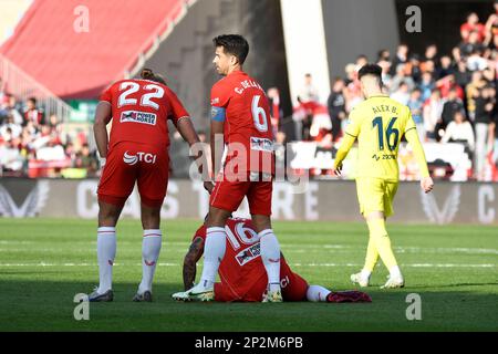
[[116,228],[102,227],[97,229],[97,260],[98,260],[98,289],[100,294],[112,289],[113,264],[116,257]]

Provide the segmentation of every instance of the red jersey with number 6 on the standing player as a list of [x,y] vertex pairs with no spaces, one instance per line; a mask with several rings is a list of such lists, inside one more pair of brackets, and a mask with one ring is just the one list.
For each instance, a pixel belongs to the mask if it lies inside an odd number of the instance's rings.
[[[259,83],[242,71],[232,72],[212,86],[211,106],[226,110],[225,144],[228,150],[225,171],[273,174],[270,106]],[[245,155],[240,155],[241,147]],[[231,167],[227,167],[237,156]]]

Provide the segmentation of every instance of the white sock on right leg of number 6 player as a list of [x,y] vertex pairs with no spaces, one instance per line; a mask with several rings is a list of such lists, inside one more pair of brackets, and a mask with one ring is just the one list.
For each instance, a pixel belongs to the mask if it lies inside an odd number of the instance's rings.
[[280,290],[280,244],[273,230],[267,229],[259,232],[261,259],[268,274],[270,291]]

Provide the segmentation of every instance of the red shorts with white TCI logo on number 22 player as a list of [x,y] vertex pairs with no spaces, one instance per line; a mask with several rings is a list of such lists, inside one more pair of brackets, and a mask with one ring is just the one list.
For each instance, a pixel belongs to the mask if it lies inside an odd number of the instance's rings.
[[136,181],[142,202],[158,208],[166,196],[168,171],[169,157],[165,148],[122,142],[107,153],[98,184],[98,200],[123,206]]

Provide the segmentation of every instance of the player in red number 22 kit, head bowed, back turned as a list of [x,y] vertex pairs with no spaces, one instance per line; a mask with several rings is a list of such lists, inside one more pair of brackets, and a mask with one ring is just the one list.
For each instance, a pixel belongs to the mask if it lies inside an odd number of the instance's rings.
[[[123,206],[138,187],[144,229],[143,278],[134,301],[152,301],[152,282],[162,246],[160,207],[168,185],[170,119],[191,146],[199,142],[189,114],[164,79],[152,70],[142,80],[122,80],[101,96],[94,134],[103,171],[98,184],[97,259],[100,285],[90,301],[112,301],[116,223]],[[111,137],[106,125],[113,121]]]

